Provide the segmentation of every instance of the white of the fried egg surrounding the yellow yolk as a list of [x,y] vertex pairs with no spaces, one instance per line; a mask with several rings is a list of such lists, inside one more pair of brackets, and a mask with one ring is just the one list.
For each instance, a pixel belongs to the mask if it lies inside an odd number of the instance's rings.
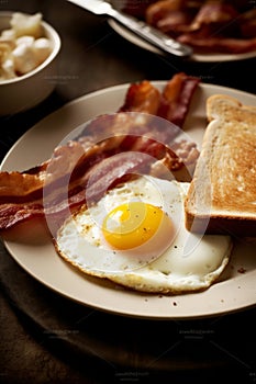
[[[189,183],[141,177],[110,190],[96,205],[70,215],[57,233],[57,252],[82,272],[126,287],[154,293],[201,291],[218,280],[229,262],[229,236],[194,235],[185,228],[183,200]],[[131,200],[160,206],[175,224],[175,236],[153,247],[113,250],[102,235],[102,221]],[[163,235],[168,237],[168,233]],[[156,252],[157,249],[157,252]]]

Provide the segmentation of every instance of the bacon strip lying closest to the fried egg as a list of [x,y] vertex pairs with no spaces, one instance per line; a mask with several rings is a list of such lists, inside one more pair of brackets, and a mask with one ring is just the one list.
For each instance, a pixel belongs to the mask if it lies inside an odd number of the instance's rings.
[[[152,145],[148,146],[148,144]],[[171,154],[171,168],[180,168],[180,159],[175,153],[171,153],[167,147],[163,147],[164,145],[160,143],[147,142],[147,154],[130,150],[115,153],[115,150],[111,150],[108,151],[108,157],[104,154],[105,158],[100,154],[101,160],[96,161],[94,165],[89,158],[86,161],[87,156],[85,156],[84,170],[78,170],[79,166],[77,166],[74,170],[76,177],[67,174],[66,178],[63,177],[48,185],[44,185],[40,190],[41,195],[44,196],[33,200],[31,194],[26,194],[22,196],[22,200],[15,196],[16,202],[10,202],[5,196],[5,203],[1,204],[0,210],[0,228],[9,229],[31,217],[44,216],[47,216],[48,223],[58,226],[58,223],[76,207],[94,203],[103,196],[109,188],[119,183],[124,177],[130,178],[130,174],[134,173],[151,173],[151,165],[157,161],[158,158],[163,159],[167,154]],[[138,146],[137,149],[140,149]],[[158,158],[153,157],[151,151],[157,153]],[[165,156],[159,156],[159,154]],[[80,176],[78,177],[78,174]],[[52,226],[51,229],[55,230],[56,228]]]

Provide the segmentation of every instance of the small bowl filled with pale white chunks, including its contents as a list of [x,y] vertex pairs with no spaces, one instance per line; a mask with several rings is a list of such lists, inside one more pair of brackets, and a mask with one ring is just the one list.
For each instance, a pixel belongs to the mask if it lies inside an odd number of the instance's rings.
[[60,46],[42,13],[0,12],[0,116],[27,111],[53,92]]

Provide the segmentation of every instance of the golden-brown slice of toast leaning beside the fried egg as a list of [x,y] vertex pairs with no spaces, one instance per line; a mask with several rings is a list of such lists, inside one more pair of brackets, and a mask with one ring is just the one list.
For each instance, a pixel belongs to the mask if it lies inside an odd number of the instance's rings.
[[185,202],[186,227],[256,237],[256,106],[214,94],[207,101],[207,116]]

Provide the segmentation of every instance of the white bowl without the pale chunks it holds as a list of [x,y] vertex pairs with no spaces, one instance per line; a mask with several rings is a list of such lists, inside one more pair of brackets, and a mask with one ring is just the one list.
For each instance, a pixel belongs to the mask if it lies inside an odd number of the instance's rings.
[[[10,29],[13,12],[0,12],[0,31]],[[44,99],[54,90],[57,79],[57,56],[60,50],[58,33],[42,21],[45,37],[53,44],[53,50],[34,70],[18,78],[0,82],[0,115],[24,112]]]

